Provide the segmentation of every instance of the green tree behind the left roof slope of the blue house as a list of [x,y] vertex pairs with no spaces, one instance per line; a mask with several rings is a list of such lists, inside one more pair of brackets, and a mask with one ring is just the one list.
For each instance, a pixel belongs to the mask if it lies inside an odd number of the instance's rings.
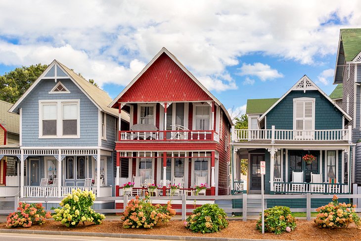
[[15,68],[0,76],[0,99],[9,103],[15,103],[46,68],[46,64],[42,65],[39,63],[29,67]]

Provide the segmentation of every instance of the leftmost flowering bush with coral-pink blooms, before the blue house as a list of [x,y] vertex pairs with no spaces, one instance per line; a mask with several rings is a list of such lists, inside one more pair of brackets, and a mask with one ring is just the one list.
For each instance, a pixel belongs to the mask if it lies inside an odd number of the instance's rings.
[[32,225],[42,225],[46,218],[51,218],[50,212],[45,212],[41,203],[19,202],[16,212],[10,213],[6,218],[7,228],[24,227]]

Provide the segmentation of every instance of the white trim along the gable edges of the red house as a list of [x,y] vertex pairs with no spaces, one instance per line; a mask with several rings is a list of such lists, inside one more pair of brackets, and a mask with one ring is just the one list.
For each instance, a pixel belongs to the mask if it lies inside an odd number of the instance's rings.
[[[185,68],[185,66],[177,59],[176,56],[174,56],[170,51],[168,51],[167,48],[162,48],[153,58],[150,60],[150,62],[145,65],[145,67],[135,76],[135,78],[129,83],[124,90],[113,99],[113,101],[108,105],[108,107],[112,108],[115,103],[117,103],[118,99],[122,97],[132,86],[133,84],[144,74],[146,70],[158,59],[158,57],[162,54],[166,53],[180,68],[183,70],[189,78],[191,78],[208,96],[210,96],[226,113],[226,116],[228,118],[228,121],[231,125],[233,125],[232,119],[229,116],[228,111],[226,110],[226,107],[215,97],[213,96],[194,76],[193,74]],[[173,101],[172,101],[173,102]]]

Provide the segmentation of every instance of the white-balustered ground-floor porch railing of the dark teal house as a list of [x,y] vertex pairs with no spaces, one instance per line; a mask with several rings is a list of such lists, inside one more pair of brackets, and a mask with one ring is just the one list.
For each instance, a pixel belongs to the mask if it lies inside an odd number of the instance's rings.
[[274,193],[349,193],[347,184],[331,184],[331,183],[273,183]]

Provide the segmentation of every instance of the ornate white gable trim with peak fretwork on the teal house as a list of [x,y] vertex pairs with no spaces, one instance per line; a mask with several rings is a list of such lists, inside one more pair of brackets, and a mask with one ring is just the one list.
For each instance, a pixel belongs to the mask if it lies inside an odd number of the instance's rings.
[[306,92],[311,90],[316,90],[321,93],[328,101],[334,104],[335,107],[344,114],[347,120],[352,120],[352,118],[343,109],[341,109],[340,106],[335,104],[335,102],[329,96],[327,96],[321,89],[319,89],[318,86],[316,86],[316,84],[312,82],[309,77],[307,77],[307,75],[304,75],[299,81],[297,81],[297,83],[291,89],[289,89],[282,97],[280,97],[258,120],[262,121],[265,116],[271,111],[271,109],[273,109],[279,102],[281,102],[281,100],[286,97],[291,91]]

